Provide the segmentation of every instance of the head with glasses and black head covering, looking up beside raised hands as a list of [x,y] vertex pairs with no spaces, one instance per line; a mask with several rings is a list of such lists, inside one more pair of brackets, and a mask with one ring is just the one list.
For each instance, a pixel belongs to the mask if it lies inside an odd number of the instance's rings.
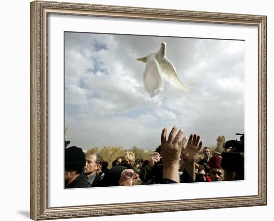
[[102,186],[126,186],[140,184],[139,175],[125,166],[115,166],[108,170],[102,179]]

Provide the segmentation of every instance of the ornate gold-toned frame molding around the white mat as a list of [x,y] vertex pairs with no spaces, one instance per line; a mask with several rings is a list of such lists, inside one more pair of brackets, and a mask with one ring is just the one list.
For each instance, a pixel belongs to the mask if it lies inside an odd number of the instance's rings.
[[[99,16],[258,27],[258,195],[127,204],[47,204],[47,16]],[[30,3],[30,218],[33,220],[267,205],[267,17],[34,1]]]

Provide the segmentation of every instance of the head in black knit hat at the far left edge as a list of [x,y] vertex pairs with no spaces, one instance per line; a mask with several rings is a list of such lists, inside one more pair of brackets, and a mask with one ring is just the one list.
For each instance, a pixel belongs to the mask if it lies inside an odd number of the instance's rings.
[[69,147],[65,149],[65,176],[66,182],[73,181],[85,166],[85,154],[79,147]]

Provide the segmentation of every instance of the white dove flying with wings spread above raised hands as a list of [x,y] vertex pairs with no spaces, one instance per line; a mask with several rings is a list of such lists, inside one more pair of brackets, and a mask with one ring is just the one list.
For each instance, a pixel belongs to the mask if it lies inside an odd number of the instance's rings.
[[160,50],[150,53],[145,57],[137,58],[138,61],[146,63],[143,73],[144,88],[151,97],[164,89],[164,80],[167,80],[173,86],[189,92],[189,86],[186,85],[176,73],[173,64],[165,56],[166,43],[163,42]]

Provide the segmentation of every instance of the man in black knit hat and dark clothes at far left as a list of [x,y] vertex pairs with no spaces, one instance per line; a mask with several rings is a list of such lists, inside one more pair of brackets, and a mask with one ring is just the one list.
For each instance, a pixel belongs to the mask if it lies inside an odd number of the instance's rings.
[[89,187],[83,171],[86,164],[85,153],[79,147],[65,149],[65,188]]

